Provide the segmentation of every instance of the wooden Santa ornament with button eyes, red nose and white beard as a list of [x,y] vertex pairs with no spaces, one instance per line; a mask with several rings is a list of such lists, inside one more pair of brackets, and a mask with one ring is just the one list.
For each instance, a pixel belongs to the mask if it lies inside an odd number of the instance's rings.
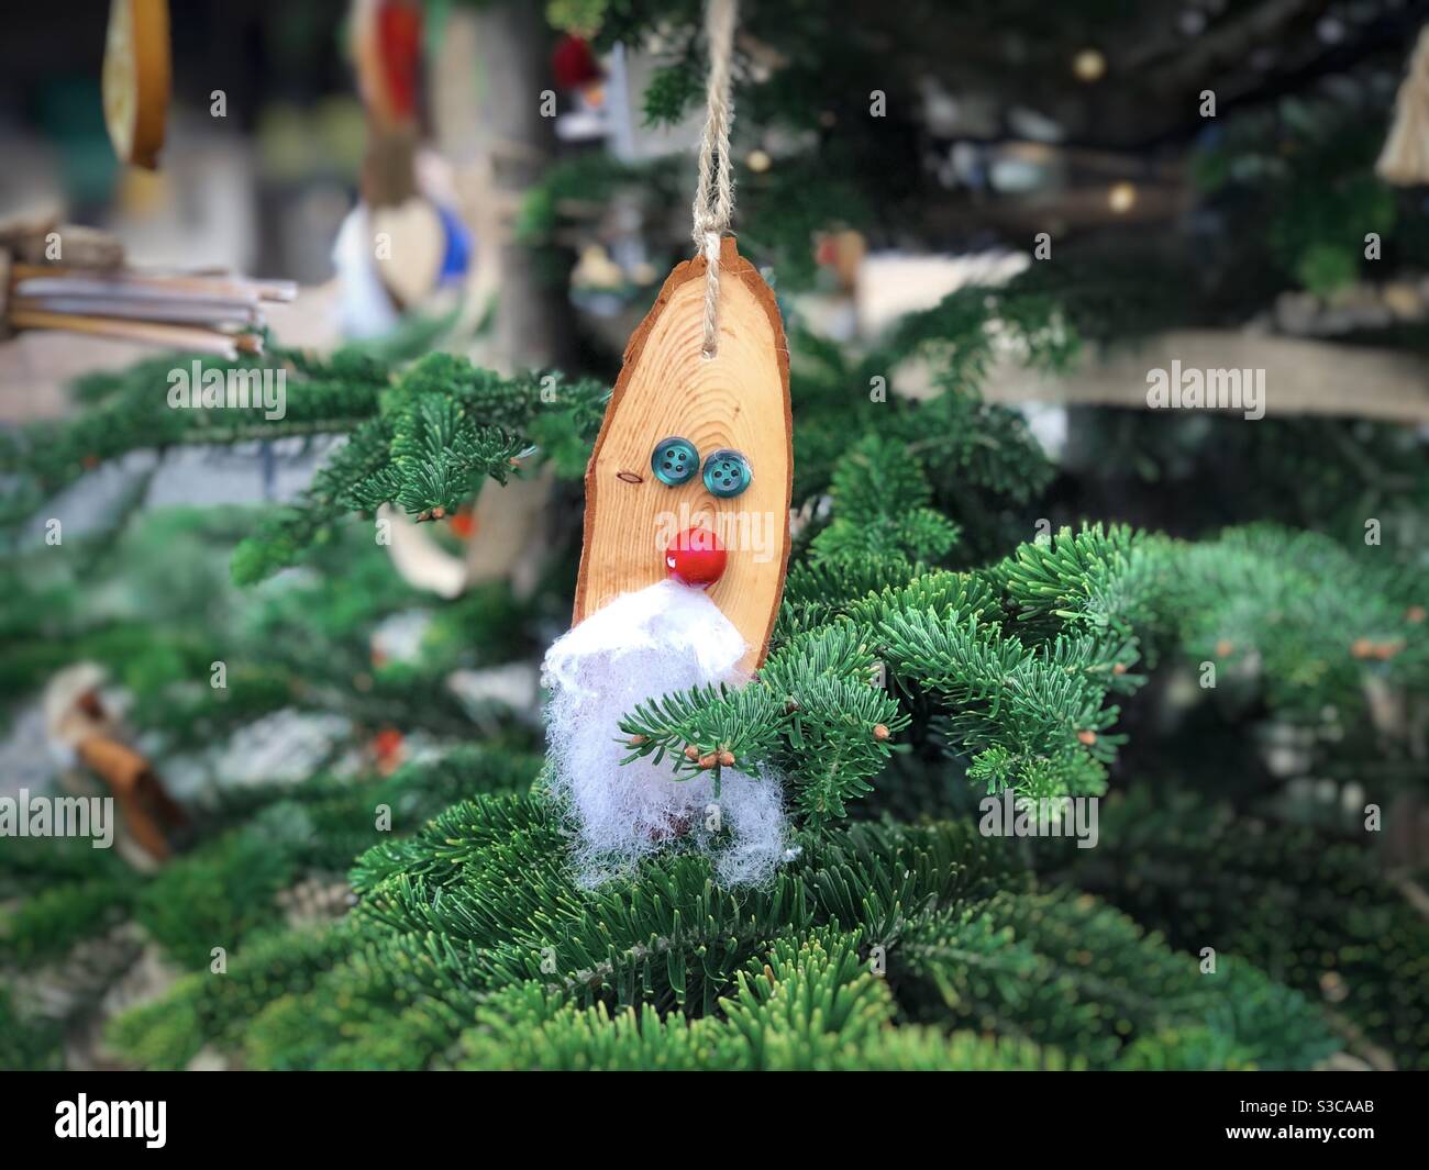
[[765,769],[676,776],[623,763],[639,703],[763,661],[789,557],[789,353],[769,286],[726,239],[719,333],[704,353],[706,263],[680,264],[626,347],[586,470],[574,623],[546,656],[550,790],[583,884],[666,847],[707,853],[725,884],[767,879],[786,847]]

